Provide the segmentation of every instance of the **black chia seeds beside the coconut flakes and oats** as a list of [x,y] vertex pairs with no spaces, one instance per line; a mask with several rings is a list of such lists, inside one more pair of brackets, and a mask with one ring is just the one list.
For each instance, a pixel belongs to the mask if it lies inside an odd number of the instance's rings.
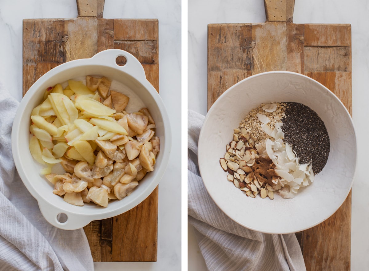
[[299,157],[299,164],[313,162],[317,174],[327,163],[330,141],[324,122],[315,111],[297,102],[286,102],[282,118],[284,140],[292,145]]

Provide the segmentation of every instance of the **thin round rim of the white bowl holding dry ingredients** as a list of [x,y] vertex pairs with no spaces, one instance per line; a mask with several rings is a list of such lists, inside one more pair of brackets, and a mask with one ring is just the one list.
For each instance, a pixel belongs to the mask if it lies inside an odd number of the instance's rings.
[[[242,223],[241,221],[238,221],[237,219],[235,219],[234,217],[230,216],[225,210],[224,210],[224,207],[221,206],[221,204],[218,204],[218,200],[216,198],[213,197],[213,195],[211,194],[210,192],[210,189],[208,187],[208,182],[204,182],[204,174],[203,174],[203,170],[204,170],[204,167],[201,166],[201,157],[203,157],[206,153],[206,150],[202,150],[203,148],[203,145],[202,145],[202,138],[204,136],[204,126],[205,124],[207,123],[208,119],[210,118],[210,115],[211,113],[213,112],[213,110],[215,110],[215,107],[217,106],[218,103],[220,103],[220,100],[225,96],[227,95],[228,92],[232,91],[232,89],[236,88],[238,85],[240,84],[244,84],[245,81],[248,81],[250,79],[254,79],[256,77],[260,77],[260,76],[264,76],[264,75],[269,75],[269,74],[291,74],[291,75],[294,75],[294,76],[298,76],[298,77],[303,77],[303,78],[306,78],[310,81],[313,81],[315,84],[317,84],[318,86],[320,86],[321,88],[325,89],[326,91],[328,91],[328,93],[330,93],[332,95],[333,98],[335,98],[339,104],[344,108],[344,111],[346,113],[346,115],[349,117],[349,121],[350,121],[350,124],[352,125],[352,128],[353,128],[353,138],[354,138],[354,142],[355,142],[355,161],[354,161],[354,170],[353,170],[353,174],[352,174],[352,178],[351,178],[351,181],[350,181],[350,184],[349,184],[349,189],[347,189],[347,191],[345,192],[345,197],[342,197],[342,200],[340,201],[340,204],[337,206],[337,208],[335,208],[335,210],[328,216],[328,217],[324,217],[323,219],[320,219],[320,220],[317,220],[315,221],[314,223],[311,223],[309,225],[307,225],[306,227],[300,227],[300,228],[296,228],[296,230],[293,230],[293,231],[273,231],[273,230],[259,230],[258,228],[255,228],[255,227],[251,227],[251,226],[248,226],[247,224],[245,223]],[[219,209],[221,211],[223,211],[223,213],[228,216],[231,220],[235,221],[236,223],[238,223],[239,225],[243,226],[243,227],[246,227],[246,228],[249,228],[250,230],[254,230],[254,231],[259,231],[261,233],[267,233],[267,234],[288,234],[288,233],[296,233],[296,232],[299,232],[299,231],[303,231],[303,230],[307,230],[309,228],[312,228],[314,226],[317,226],[318,224],[322,223],[324,220],[327,220],[329,217],[331,217],[341,206],[342,204],[344,203],[344,201],[346,200],[348,194],[350,193],[351,191],[351,188],[352,188],[352,184],[354,183],[354,180],[355,180],[355,176],[356,176],[356,170],[357,170],[357,160],[358,160],[358,152],[357,152],[357,137],[356,137],[356,129],[355,129],[355,125],[354,125],[354,122],[352,121],[352,116],[351,114],[349,113],[349,111],[347,110],[346,106],[342,103],[342,101],[337,97],[337,95],[335,95],[330,89],[328,89],[327,87],[325,87],[323,84],[321,84],[320,82],[316,81],[315,79],[311,78],[311,77],[308,77],[306,75],[303,75],[303,74],[299,74],[297,72],[291,72],[291,71],[267,71],[267,72],[261,72],[259,74],[254,74],[254,75],[251,75],[249,77],[246,77],[244,79],[242,79],[241,81],[237,82],[236,84],[232,85],[231,87],[229,87],[227,90],[225,90],[216,100],[215,102],[213,103],[213,105],[211,105],[210,109],[208,110],[205,118],[204,118],[204,121],[203,121],[203,124],[201,126],[201,130],[200,130],[200,134],[199,134],[199,141],[198,141],[198,145],[197,145],[197,149],[198,149],[198,157],[197,157],[197,160],[198,160],[198,164],[199,164],[199,172],[200,172],[200,176],[201,176],[201,179],[203,181],[203,184],[207,190],[207,193],[209,194],[209,196],[211,197],[211,199],[214,201],[214,203],[219,207]]]

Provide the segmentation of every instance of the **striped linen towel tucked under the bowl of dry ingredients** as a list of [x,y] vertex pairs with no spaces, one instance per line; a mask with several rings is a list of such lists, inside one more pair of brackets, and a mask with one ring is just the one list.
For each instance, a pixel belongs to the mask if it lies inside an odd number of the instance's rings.
[[188,112],[188,221],[210,271],[304,271],[295,234],[264,234],[231,220],[211,199],[197,163],[204,116]]

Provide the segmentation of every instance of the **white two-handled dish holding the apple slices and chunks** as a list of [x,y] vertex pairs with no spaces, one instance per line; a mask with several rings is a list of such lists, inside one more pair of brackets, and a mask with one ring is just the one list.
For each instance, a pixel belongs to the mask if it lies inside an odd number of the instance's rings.
[[[124,66],[116,64],[118,56],[127,60]],[[86,75],[105,76],[112,80],[111,89],[130,97],[127,111],[142,107],[149,109],[156,123],[156,135],[160,138],[160,152],[156,157],[154,171],[149,172],[139,182],[130,196],[122,200],[110,201],[108,207],[95,204],[74,206],[52,193],[53,186],[40,175],[43,167],[37,163],[28,148],[30,115],[32,109],[42,102],[45,89],[68,79],[84,79]],[[65,86],[63,86],[65,87]],[[92,58],[69,61],[53,68],[39,78],[24,95],[14,118],[12,149],[15,166],[28,191],[38,201],[41,213],[52,225],[65,230],[73,230],[87,225],[92,220],[106,219],[124,213],[141,203],[158,185],[168,165],[171,135],[170,123],[165,106],[155,88],[146,80],[140,62],[128,52],[111,49],[99,52]],[[68,217],[64,223],[58,221],[59,213]]]

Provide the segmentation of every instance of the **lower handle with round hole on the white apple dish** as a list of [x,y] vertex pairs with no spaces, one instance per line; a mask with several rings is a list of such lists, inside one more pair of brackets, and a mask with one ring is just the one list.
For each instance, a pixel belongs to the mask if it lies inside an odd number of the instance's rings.
[[76,230],[92,221],[89,216],[73,214],[55,206],[50,206],[46,202],[38,201],[38,206],[46,221],[62,230]]

